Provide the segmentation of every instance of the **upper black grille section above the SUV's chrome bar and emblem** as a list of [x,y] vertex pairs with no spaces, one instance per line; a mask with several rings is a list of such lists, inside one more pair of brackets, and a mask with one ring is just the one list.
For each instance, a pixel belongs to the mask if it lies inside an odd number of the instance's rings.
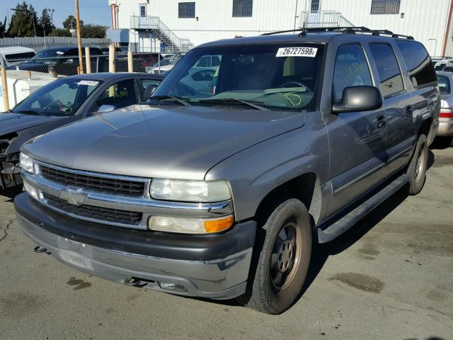
[[144,193],[144,182],[74,174],[69,171],[57,170],[48,166],[40,166],[40,171],[41,176],[45,179],[64,184],[65,186],[76,186],[77,188],[86,188],[90,191],[97,191],[100,193],[115,193],[118,195],[134,197],[143,196]]

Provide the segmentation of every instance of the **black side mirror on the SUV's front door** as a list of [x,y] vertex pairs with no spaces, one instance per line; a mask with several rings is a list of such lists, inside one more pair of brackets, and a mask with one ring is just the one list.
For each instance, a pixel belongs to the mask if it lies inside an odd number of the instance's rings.
[[372,111],[382,107],[381,91],[374,86],[350,86],[343,90],[340,103],[333,103],[332,113]]

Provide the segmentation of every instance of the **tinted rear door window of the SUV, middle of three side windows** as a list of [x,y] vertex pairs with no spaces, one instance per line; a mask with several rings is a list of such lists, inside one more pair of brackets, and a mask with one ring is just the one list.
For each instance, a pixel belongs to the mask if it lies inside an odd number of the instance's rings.
[[382,96],[385,98],[403,91],[403,77],[390,45],[374,43],[369,44],[369,48],[379,73]]

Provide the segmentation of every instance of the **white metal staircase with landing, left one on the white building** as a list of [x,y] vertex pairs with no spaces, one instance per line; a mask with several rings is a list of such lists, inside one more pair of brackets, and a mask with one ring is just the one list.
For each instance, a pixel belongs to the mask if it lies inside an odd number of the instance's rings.
[[182,53],[195,47],[188,39],[179,38],[158,16],[131,16],[130,28],[147,30],[166,46],[165,52]]

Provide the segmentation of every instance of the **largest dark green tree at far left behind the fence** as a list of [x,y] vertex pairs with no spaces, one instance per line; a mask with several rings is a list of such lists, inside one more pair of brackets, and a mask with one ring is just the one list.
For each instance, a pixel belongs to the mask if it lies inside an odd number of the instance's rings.
[[6,33],[9,37],[33,37],[35,33],[38,35],[39,32],[42,32],[33,5],[28,6],[23,1],[22,4],[17,4],[13,11],[8,32]]

